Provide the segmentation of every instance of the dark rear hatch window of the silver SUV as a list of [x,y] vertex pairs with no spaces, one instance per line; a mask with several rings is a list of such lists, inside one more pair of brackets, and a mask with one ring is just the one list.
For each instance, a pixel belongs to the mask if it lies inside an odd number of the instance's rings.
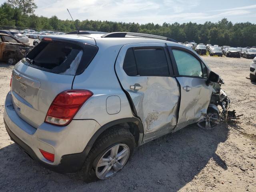
[[90,64],[97,51],[97,46],[82,42],[42,40],[22,62],[46,72],[78,75]]

